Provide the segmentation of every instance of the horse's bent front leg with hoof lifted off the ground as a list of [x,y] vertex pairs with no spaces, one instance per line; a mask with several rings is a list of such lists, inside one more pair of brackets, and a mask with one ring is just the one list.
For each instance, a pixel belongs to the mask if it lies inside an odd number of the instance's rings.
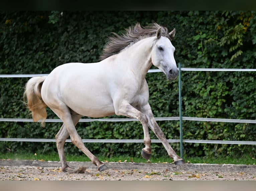
[[117,115],[124,115],[127,117],[136,118],[141,122],[141,124],[143,126],[143,133],[144,133],[144,141],[143,142],[145,145],[145,148],[143,148],[141,151],[141,155],[146,160],[150,159],[150,157],[151,157],[151,146],[150,146],[151,139],[149,137],[147,116],[128,103],[122,104],[121,106],[119,106],[118,110],[116,110],[115,112]]

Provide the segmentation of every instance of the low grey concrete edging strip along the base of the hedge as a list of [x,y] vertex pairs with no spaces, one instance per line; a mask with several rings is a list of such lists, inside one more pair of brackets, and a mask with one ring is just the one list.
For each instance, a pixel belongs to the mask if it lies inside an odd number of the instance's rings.
[[[85,166],[87,169],[97,170],[92,162],[68,162],[71,167]],[[173,163],[131,163],[131,162],[106,162],[110,169],[123,170],[145,170],[161,171],[169,170],[174,172],[250,172],[256,173],[256,165],[235,165],[235,164],[186,164],[177,166]],[[39,160],[0,160],[0,166],[40,166],[40,167],[61,167],[59,161]]]

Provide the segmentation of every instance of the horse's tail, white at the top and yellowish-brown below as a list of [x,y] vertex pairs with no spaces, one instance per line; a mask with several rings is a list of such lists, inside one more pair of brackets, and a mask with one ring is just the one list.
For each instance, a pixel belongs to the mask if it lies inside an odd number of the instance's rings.
[[[37,76],[31,78],[25,87],[23,95],[24,102],[28,109],[31,111],[33,121],[36,122],[42,119],[41,126],[45,125],[45,119],[47,117],[46,107],[41,96],[42,84],[47,76]],[[27,100],[27,102],[26,102]]]

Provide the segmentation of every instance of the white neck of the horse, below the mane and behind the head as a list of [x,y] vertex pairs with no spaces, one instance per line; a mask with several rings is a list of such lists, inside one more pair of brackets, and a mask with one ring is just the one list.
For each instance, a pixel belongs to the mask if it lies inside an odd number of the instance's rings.
[[151,50],[153,48],[153,37],[142,39],[126,49],[123,53],[127,55],[127,67],[140,76],[145,78],[149,68],[152,66]]

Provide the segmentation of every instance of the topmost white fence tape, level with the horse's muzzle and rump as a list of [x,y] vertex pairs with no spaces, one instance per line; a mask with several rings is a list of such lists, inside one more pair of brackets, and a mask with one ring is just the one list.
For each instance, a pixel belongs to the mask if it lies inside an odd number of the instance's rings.
[[[181,68],[181,71],[209,71],[209,72],[256,72],[256,69],[239,68]],[[148,73],[161,72],[159,69],[150,69]],[[0,78],[32,78],[35,76],[48,76],[48,74],[1,74]]]

